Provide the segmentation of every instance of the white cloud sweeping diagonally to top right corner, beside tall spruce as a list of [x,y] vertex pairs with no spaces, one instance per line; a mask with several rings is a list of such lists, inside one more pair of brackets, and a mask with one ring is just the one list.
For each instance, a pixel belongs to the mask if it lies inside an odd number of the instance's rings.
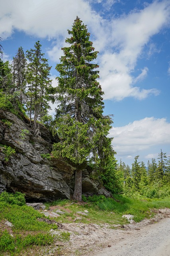
[[[140,76],[133,77],[133,71],[145,44],[166,26],[170,18],[168,2],[153,2],[143,10],[131,12],[111,21],[110,35],[107,36],[107,52],[100,58],[100,76],[105,99],[122,100],[133,96],[143,99],[149,94],[158,95],[158,90],[141,90],[133,87],[135,82],[147,75],[143,68]],[[150,22],[152,20],[152,22]],[[111,47],[115,47],[113,52]],[[150,53],[151,54],[151,53]]]

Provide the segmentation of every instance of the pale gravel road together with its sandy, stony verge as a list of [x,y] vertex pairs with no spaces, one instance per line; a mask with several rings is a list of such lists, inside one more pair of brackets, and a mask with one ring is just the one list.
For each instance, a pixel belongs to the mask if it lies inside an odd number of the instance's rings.
[[55,256],[170,256],[170,209],[161,209],[150,220],[111,228],[108,224],[69,223],[69,242],[60,242],[46,255]]

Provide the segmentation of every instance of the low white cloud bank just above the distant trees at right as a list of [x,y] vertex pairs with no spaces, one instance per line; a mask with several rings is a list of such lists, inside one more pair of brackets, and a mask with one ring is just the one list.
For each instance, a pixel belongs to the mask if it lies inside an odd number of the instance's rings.
[[170,123],[166,118],[146,117],[110,131],[118,155],[129,157],[154,146],[170,144]]

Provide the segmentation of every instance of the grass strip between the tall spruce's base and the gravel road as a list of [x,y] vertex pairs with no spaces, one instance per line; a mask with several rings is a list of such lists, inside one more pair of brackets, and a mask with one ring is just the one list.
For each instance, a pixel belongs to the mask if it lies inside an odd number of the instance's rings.
[[[135,222],[139,222],[144,218],[153,216],[150,209],[152,208],[170,208],[170,198],[164,199],[145,199],[145,198],[129,198],[123,195],[114,195],[113,198],[105,198],[104,196],[89,197],[84,203],[76,203],[69,200],[54,201],[52,206],[56,205],[57,210],[60,208],[65,214],[57,218],[59,222],[72,222],[76,217],[81,219],[76,222],[83,223],[109,223],[109,224],[125,224],[127,220],[122,218],[124,214],[134,215]],[[47,208],[49,204],[46,204]],[[77,214],[88,210],[88,216]]]

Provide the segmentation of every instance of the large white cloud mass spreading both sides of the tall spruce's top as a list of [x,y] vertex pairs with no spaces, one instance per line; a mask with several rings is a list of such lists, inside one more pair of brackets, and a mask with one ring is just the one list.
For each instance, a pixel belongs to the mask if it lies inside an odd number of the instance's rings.
[[[68,36],[67,29],[71,29],[78,15],[88,25],[94,47],[100,52],[97,61],[104,99],[122,100],[130,96],[144,99],[150,94],[158,95],[158,90],[154,88],[148,90],[136,86],[147,76],[147,67],[143,67],[137,77],[133,76],[133,71],[144,46],[168,24],[169,2],[154,1],[145,5],[143,10],[135,9],[127,15],[109,17],[108,20],[92,9],[92,2],[110,8],[117,1],[3,1],[0,8],[0,36],[5,40],[12,36],[14,30],[19,30],[39,38],[49,38],[52,45],[47,51],[49,58],[58,62],[63,54],[61,47]],[[150,44],[149,55],[154,51],[154,45]]]

